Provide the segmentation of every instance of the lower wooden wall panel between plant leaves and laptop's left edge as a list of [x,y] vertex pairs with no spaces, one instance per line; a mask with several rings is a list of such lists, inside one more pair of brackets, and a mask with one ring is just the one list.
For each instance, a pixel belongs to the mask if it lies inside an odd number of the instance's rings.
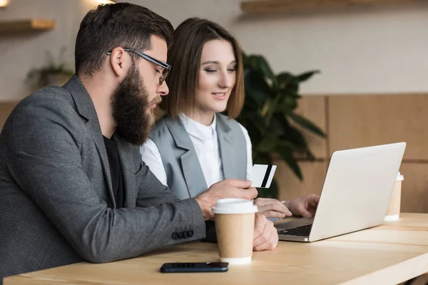
[[284,162],[275,161],[275,164],[275,178],[280,185],[278,199],[288,200],[312,193],[320,195],[327,173],[327,161],[300,162],[303,181],[298,180]]

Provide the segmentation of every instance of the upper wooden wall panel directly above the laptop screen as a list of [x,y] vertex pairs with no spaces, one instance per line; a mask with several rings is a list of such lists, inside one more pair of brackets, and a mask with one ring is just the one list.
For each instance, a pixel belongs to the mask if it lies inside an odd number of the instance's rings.
[[328,98],[329,153],[407,142],[404,160],[428,160],[428,94]]

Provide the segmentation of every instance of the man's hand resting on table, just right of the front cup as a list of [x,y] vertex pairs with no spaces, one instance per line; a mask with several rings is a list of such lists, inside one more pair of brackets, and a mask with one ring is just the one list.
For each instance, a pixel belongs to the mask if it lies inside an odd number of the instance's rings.
[[273,222],[270,222],[265,215],[256,213],[254,222],[253,250],[275,249],[278,244],[278,234]]

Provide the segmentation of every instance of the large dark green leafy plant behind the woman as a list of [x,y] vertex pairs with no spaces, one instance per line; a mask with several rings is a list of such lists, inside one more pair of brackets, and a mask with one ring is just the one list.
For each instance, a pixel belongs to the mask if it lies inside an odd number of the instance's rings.
[[[295,128],[300,125],[325,138],[325,133],[307,118],[295,113],[300,83],[319,71],[293,75],[274,74],[263,56],[243,55],[245,103],[237,120],[248,130],[253,145],[253,163],[272,165],[272,155],[280,157],[292,172],[303,179],[295,154],[313,160],[307,141]],[[277,197],[277,183],[259,189],[260,197]]]

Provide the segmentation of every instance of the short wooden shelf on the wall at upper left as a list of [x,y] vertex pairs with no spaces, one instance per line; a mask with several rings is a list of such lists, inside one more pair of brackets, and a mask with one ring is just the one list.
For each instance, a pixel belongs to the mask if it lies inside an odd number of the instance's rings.
[[0,35],[13,35],[32,31],[49,31],[55,28],[55,26],[56,22],[49,19],[0,21]]

